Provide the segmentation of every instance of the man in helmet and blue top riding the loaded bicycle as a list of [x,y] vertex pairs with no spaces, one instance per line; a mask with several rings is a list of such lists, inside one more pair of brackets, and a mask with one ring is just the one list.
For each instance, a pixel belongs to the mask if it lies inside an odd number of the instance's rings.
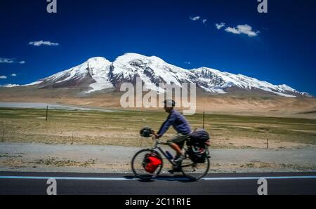
[[177,135],[173,137],[171,140],[168,140],[169,146],[176,151],[176,157],[173,160],[175,163],[180,163],[185,159],[185,154],[182,150],[183,144],[185,140],[190,137],[191,126],[187,122],[187,119],[180,114],[174,107],[176,106],[176,102],[173,100],[165,100],[164,101],[164,109],[167,113],[169,113],[168,118],[162,124],[162,127],[159,129],[158,133],[153,133],[154,137],[159,139],[166,133],[170,126],[172,126]]

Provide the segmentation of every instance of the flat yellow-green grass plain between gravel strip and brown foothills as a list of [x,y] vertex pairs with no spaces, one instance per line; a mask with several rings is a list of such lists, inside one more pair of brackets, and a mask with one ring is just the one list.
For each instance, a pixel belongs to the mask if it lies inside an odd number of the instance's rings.
[[[0,142],[44,144],[98,144],[148,147],[150,139],[139,136],[140,128],[155,130],[166,113],[154,111],[96,112],[0,108]],[[187,116],[192,128],[202,126],[202,114]],[[316,119],[207,114],[206,130],[212,148],[288,149],[316,146]],[[169,130],[164,139],[174,134]]]

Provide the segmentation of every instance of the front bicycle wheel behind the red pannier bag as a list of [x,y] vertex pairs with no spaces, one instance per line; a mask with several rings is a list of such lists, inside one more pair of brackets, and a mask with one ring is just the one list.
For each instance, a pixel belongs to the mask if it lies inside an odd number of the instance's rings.
[[162,171],[163,161],[162,164],[154,171],[154,173],[148,173],[145,170],[145,159],[148,154],[156,154],[157,158],[162,161],[162,156],[160,156],[157,151],[154,151],[152,149],[143,149],[138,151],[135,156],[133,156],[133,159],[131,161],[131,168],[134,175],[142,180],[152,180],[157,177],[157,175],[159,175],[159,173]]

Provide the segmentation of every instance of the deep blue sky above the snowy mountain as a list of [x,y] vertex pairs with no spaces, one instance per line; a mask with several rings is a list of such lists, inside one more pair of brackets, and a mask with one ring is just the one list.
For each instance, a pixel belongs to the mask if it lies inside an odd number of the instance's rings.
[[315,1],[268,0],[266,14],[256,0],[57,2],[51,14],[46,0],[0,1],[0,85],[133,52],[316,95]]

